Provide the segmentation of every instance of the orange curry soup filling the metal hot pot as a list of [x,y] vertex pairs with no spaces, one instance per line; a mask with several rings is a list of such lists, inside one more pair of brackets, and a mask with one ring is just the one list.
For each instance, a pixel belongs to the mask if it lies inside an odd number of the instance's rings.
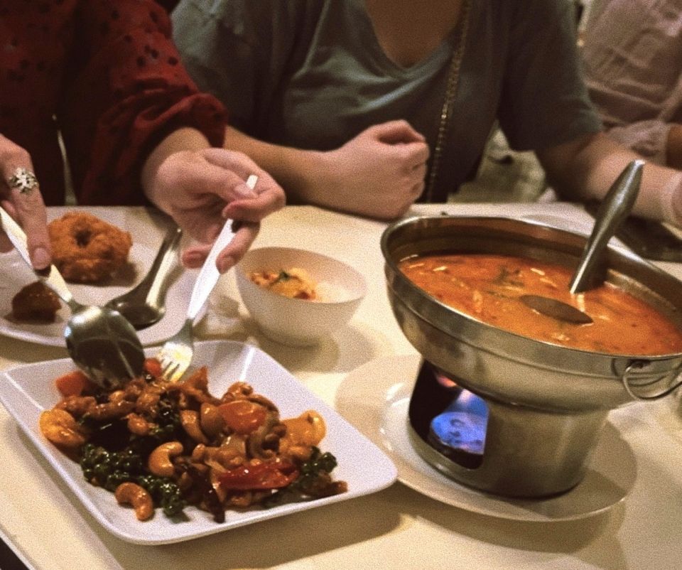
[[[483,323],[569,348],[622,355],[682,352],[682,331],[648,303],[605,283],[570,294],[573,271],[535,259],[492,254],[411,257],[401,271],[428,294]],[[524,305],[524,294],[552,297],[588,313],[576,325]]]

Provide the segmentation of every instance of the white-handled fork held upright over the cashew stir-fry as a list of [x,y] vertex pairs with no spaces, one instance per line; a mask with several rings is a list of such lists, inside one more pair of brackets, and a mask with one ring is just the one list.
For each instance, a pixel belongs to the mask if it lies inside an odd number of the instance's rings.
[[[258,176],[251,174],[247,179],[247,186],[253,190],[257,181]],[[169,382],[180,380],[192,363],[194,355],[194,320],[220,277],[220,272],[215,265],[215,259],[222,249],[232,241],[233,237],[232,220],[225,220],[222,230],[220,230],[220,235],[215,240],[197,275],[183,326],[180,327],[180,330],[175,335],[166,340],[166,343],[163,344],[161,350],[156,355],[156,359],[161,363],[161,375]]]

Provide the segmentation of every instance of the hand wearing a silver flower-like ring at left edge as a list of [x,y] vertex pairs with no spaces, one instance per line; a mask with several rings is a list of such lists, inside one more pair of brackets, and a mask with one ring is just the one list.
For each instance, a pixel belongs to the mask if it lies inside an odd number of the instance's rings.
[[[52,261],[48,214],[33,174],[31,155],[1,134],[0,176],[0,205],[26,232],[33,268],[45,269]],[[11,242],[0,230],[0,252],[11,249]]]

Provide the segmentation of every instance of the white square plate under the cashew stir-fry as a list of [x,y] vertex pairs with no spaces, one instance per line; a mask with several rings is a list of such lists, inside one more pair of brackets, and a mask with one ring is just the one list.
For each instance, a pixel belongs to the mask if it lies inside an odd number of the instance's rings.
[[[146,353],[152,356],[155,351],[149,348]],[[327,435],[320,449],[330,451],[337,458],[338,466],[332,475],[335,480],[347,482],[347,493],[267,510],[227,510],[223,523],[214,522],[210,513],[195,507],[185,509],[186,522],[171,522],[160,509],[151,520],[140,522],[131,509],[117,505],[113,493],[87,483],[80,466],[60,453],[40,432],[40,413],[60,399],[53,380],[74,369],[70,359],[22,365],[4,372],[0,377],[0,402],[102,526],[136,544],[168,544],[202,537],[374,493],[396,480],[396,467],[383,451],[259,348],[227,340],[198,342],[194,364],[208,367],[212,394],[220,396],[233,382],[242,380],[271,399],[282,418],[298,416],[308,409],[322,414]],[[52,471],[45,473],[46,477],[54,475]]]

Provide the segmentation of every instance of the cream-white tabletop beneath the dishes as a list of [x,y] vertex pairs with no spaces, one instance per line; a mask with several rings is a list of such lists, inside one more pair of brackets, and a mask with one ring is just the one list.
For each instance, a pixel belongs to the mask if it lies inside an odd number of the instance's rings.
[[[416,205],[409,215],[441,213],[529,217],[580,231],[592,223],[567,203]],[[287,206],[264,220],[253,247],[304,247],[352,265],[367,279],[367,296],[350,323],[320,345],[291,348],[264,338],[240,302],[232,272],[220,279],[197,335],[257,345],[332,407],[355,387],[371,394],[372,382],[385,382],[384,375],[413,382],[419,355],[386,295],[379,247],[386,227],[312,206]],[[682,278],[682,264],[659,267]],[[0,338],[0,370],[66,355],[60,347]],[[368,404],[381,414],[381,401]],[[100,526],[0,405],[0,537],[27,566],[45,570],[680,568],[681,411],[673,394],[610,412],[632,478],[609,508],[575,520],[483,514],[416,489],[428,483],[399,480],[364,497],[148,546]]]

